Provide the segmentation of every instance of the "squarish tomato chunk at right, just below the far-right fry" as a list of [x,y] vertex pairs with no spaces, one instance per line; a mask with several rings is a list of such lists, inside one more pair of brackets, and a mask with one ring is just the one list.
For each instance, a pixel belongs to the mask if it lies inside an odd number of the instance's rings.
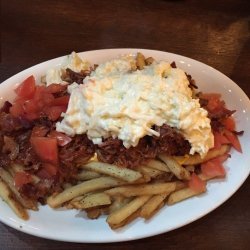
[[201,164],[201,172],[207,177],[225,177],[226,171],[220,160],[210,160]]

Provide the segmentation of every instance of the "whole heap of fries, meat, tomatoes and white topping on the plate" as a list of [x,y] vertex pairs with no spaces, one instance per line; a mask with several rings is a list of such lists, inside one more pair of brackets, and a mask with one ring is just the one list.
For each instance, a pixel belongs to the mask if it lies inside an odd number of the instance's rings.
[[91,65],[73,52],[15,92],[0,109],[0,196],[23,219],[39,203],[107,214],[113,229],[149,219],[241,152],[220,94],[141,53]]

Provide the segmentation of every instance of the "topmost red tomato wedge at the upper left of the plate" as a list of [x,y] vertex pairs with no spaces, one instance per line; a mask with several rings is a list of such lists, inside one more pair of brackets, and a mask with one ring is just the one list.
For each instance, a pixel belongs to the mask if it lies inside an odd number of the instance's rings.
[[18,97],[32,98],[35,94],[36,84],[34,76],[29,76],[15,90]]

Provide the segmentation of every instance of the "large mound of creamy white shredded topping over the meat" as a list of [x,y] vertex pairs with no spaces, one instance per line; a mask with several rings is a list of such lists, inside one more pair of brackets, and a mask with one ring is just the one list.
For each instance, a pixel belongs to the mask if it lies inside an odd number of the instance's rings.
[[159,136],[153,125],[179,129],[190,142],[190,154],[205,155],[213,147],[207,111],[200,107],[185,72],[164,61],[131,72],[132,57],[99,65],[84,84],[70,87],[70,101],[57,131],[87,133],[95,144],[112,136],[125,147],[136,146],[145,135]]

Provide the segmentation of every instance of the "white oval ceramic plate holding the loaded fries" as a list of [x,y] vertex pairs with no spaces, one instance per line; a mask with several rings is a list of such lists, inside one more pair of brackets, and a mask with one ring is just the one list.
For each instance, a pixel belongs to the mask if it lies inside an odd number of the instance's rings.
[[[108,49],[80,53],[92,63],[101,63],[121,54],[142,52],[157,60],[175,61],[177,66],[188,72],[204,92],[221,93],[230,109],[236,109],[237,129],[244,130],[240,137],[243,154],[232,152],[226,162],[227,177],[224,180],[210,181],[205,194],[163,208],[153,219],[144,222],[137,219],[123,229],[112,231],[105,222],[105,216],[89,220],[77,211],[52,210],[43,206],[38,212],[30,212],[30,220],[22,221],[9,207],[0,201],[0,220],[25,233],[48,239],[70,242],[116,242],[145,238],[168,232],[195,221],[225,202],[245,181],[250,172],[250,101],[244,92],[228,77],[212,67],[193,59],[167,52],[144,49]],[[11,99],[13,88],[33,74],[40,79],[48,68],[59,65],[63,57],[56,58],[9,78],[0,85],[0,99]],[[84,216],[84,218],[82,218]]]

